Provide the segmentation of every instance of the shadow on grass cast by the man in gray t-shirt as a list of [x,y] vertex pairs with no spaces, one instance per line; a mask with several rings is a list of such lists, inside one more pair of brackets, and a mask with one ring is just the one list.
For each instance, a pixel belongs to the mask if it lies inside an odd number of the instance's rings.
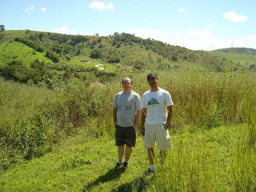
[[92,190],[93,187],[98,186],[101,183],[105,183],[111,180],[114,180],[116,178],[119,178],[120,175],[124,172],[124,168],[112,168],[108,170],[108,172],[102,176],[100,176],[95,181],[89,183],[88,185],[84,186],[83,192]]

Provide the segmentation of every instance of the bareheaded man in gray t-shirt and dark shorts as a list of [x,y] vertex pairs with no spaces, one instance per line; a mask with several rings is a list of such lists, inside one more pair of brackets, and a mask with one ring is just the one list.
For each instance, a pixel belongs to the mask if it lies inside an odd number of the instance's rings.
[[[140,96],[132,91],[132,80],[124,78],[122,88],[124,91],[116,94],[112,105],[118,151],[116,168],[119,166],[126,168],[128,166],[132,147],[136,143],[136,130],[141,115]],[[124,162],[122,161],[123,156]]]

